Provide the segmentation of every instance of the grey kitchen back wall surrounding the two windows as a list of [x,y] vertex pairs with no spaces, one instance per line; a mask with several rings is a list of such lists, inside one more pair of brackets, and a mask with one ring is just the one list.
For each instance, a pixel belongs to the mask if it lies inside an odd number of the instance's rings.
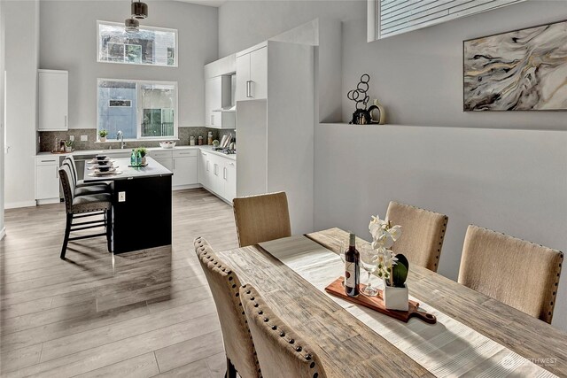
[[42,2],[40,66],[69,71],[70,128],[97,127],[97,78],[177,81],[179,126],[204,126],[203,66],[217,58],[217,9],[176,1],[147,4],[142,26],[178,30],[178,67],[97,63],[97,20],[124,22],[129,1]]

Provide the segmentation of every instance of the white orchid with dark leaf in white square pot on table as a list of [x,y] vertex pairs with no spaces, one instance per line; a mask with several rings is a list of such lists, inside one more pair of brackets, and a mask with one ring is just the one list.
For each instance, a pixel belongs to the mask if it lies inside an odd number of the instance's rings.
[[377,274],[384,279],[384,306],[389,310],[408,311],[408,258],[390,250],[401,236],[401,226],[392,226],[389,220],[380,220],[376,216],[370,221],[369,231],[372,248],[378,251]]

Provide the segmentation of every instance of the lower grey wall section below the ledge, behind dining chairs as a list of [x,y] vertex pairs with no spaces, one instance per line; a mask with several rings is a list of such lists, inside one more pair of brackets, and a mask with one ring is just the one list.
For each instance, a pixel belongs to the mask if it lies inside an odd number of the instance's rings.
[[[318,125],[315,228],[369,239],[390,200],[447,214],[439,273],[456,279],[469,224],[567,248],[567,133],[472,127]],[[567,329],[563,269],[554,325]]]

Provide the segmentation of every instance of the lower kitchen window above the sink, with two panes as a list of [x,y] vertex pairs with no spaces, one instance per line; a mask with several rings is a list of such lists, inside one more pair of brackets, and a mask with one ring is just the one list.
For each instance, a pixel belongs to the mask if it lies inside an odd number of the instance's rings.
[[97,80],[97,131],[113,139],[177,137],[177,82]]

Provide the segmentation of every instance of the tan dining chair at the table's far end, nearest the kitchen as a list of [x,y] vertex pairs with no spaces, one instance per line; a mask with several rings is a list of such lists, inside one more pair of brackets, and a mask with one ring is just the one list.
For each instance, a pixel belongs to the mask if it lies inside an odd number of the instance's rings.
[[237,197],[232,204],[240,247],[291,236],[285,192]]

